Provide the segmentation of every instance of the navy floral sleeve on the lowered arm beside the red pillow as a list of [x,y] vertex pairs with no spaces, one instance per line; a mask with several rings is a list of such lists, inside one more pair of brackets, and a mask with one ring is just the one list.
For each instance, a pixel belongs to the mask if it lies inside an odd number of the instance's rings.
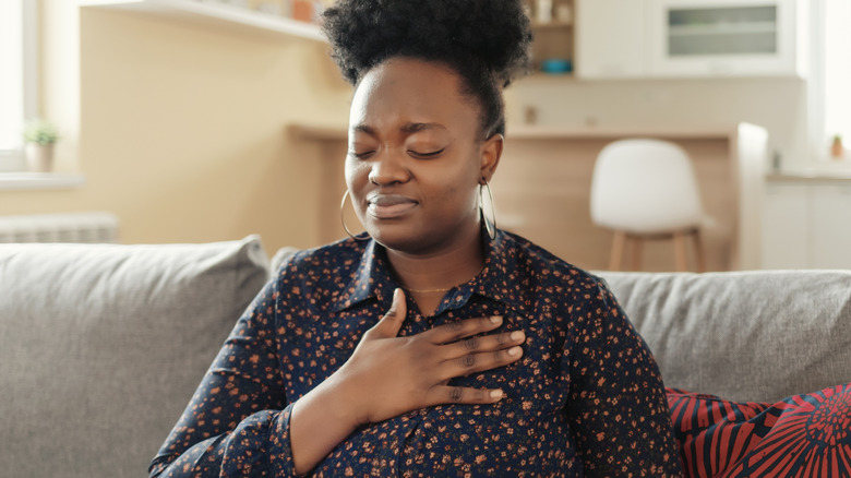
[[592,282],[576,298],[577,343],[565,357],[565,414],[588,477],[681,477],[659,368],[614,296]]

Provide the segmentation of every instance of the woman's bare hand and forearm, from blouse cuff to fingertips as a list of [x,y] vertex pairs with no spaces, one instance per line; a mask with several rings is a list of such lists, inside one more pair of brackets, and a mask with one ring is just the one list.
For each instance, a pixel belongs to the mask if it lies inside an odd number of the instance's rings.
[[440,404],[492,404],[500,390],[448,386],[451,379],[495,369],[523,356],[520,331],[493,331],[502,318],[468,319],[399,337],[405,295],[361,337],[355,352],[292,408],[290,445],[296,471],[308,473],[358,427]]

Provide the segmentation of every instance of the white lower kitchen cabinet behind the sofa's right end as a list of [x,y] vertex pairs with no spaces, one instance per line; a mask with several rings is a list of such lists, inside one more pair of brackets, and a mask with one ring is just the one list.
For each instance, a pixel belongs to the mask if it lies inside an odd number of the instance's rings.
[[851,181],[769,182],[764,268],[851,268]]

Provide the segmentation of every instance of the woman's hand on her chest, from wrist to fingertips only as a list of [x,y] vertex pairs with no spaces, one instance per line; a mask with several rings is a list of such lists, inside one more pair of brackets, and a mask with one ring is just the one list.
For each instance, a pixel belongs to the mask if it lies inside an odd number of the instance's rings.
[[396,289],[391,310],[370,328],[335,373],[345,391],[347,415],[358,425],[374,423],[406,411],[440,404],[491,404],[500,390],[450,386],[456,377],[517,361],[526,336],[493,331],[502,318],[468,319],[417,335],[398,337],[406,316],[405,294]]

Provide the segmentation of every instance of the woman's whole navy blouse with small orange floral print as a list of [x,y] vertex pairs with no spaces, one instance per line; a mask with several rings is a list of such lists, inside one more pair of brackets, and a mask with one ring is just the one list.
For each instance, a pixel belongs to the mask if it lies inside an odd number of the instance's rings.
[[[400,335],[483,315],[526,332],[523,358],[454,379],[502,389],[362,427],[316,477],[681,476],[659,370],[604,284],[499,231],[484,268]],[[384,249],[346,239],[287,260],[239,320],[151,465],[152,477],[290,477],[292,404],[351,355],[391,306]]]

